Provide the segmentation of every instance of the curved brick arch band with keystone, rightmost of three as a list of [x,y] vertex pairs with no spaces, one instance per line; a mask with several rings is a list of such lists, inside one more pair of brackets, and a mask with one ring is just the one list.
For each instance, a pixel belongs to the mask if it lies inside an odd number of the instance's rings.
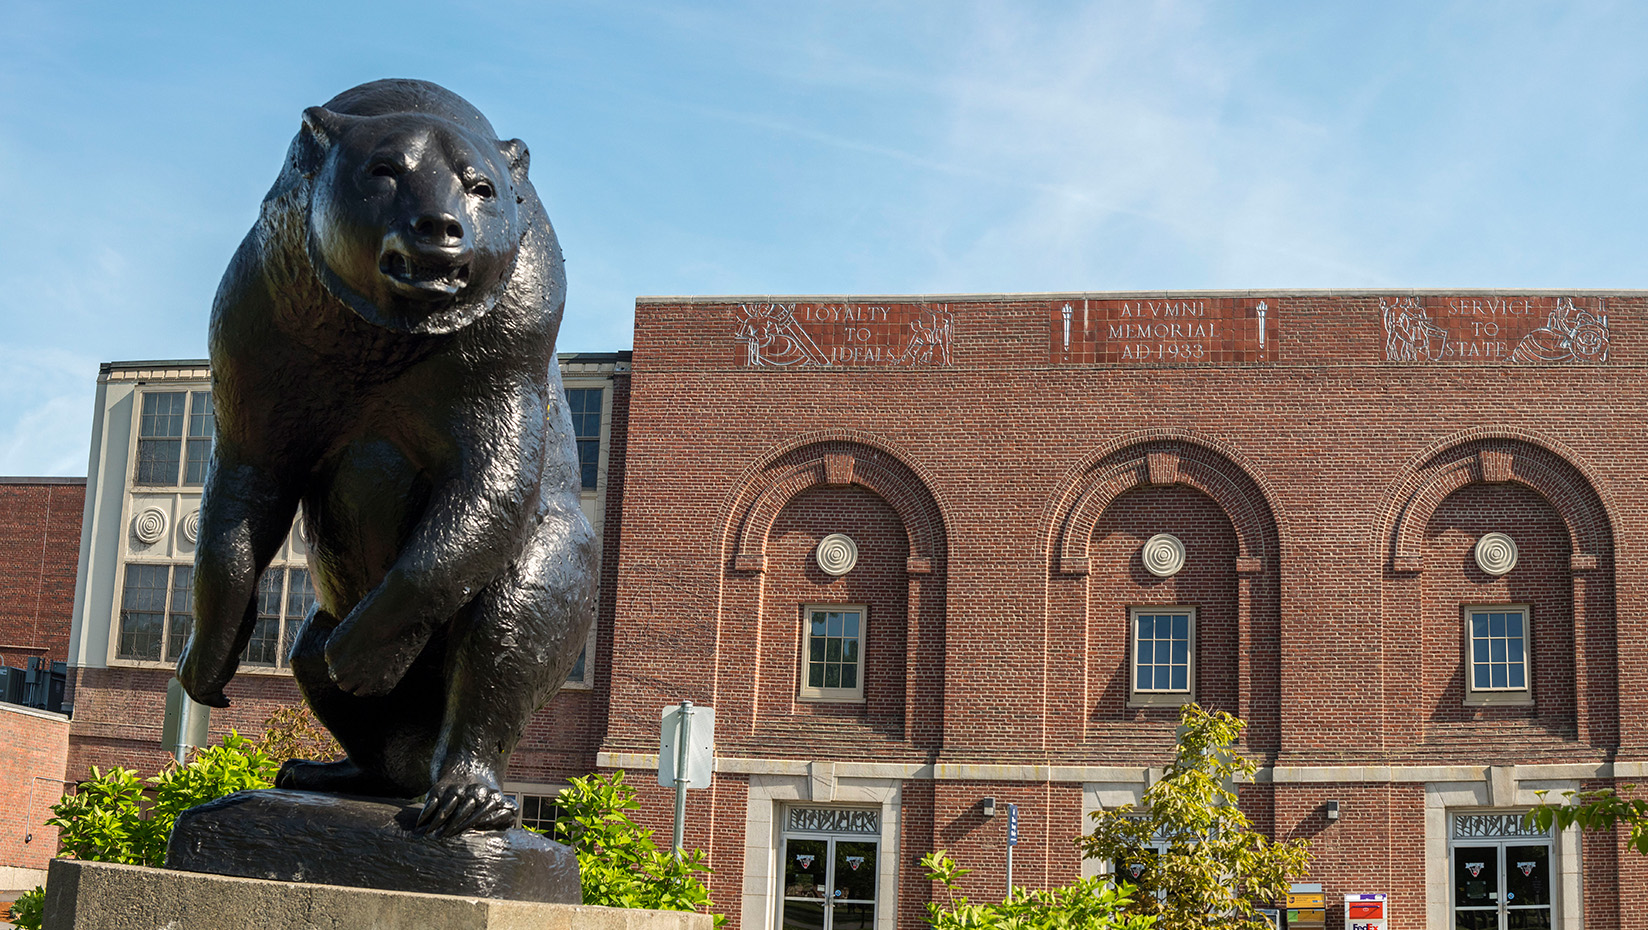
[[1590,468],[1533,434],[1472,430],[1427,449],[1393,485],[1381,561],[1398,572],[1421,571],[1430,518],[1449,495],[1475,483],[1516,483],[1549,501],[1567,528],[1574,569],[1592,571],[1612,557],[1612,508]]

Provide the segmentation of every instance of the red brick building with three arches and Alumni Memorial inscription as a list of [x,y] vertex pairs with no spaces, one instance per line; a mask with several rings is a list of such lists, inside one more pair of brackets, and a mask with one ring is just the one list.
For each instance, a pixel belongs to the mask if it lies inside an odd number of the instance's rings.
[[643,298],[600,763],[666,826],[659,711],[714,706],[687,841],[732,925],[913,928],[923,852],[1002,892],[1007,803],[1018,884],[1098,869],[1084,815],[1198,701],[1249,722],[1244,805],[1310,839],[1328,927],[1346,892],[1389,927],[1648,927],[1643,857],[1516,816],[1648,773],[1645,320],[1622,292]]

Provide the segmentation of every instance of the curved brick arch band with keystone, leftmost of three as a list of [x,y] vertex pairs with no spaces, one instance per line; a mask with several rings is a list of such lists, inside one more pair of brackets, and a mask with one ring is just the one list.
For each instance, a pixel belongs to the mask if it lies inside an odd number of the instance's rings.
[[898,514],[910,541],[906,571],[931,574],[944,562],[944,519],[931,483],[887,444],[850,430],[799,437],[745,473],[730,506],[732,569],[766,567],[773,521],[796,495],[816,486],[862,486]]

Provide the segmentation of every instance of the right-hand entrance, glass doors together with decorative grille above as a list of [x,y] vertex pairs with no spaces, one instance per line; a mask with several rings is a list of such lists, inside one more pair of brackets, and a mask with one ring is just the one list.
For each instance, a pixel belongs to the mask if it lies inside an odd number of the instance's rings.
[[1467,930],[1552,930],[1562,915],[1556,844],[1523,823],[1523,811],[1449,818],[1449,897],[1454,925]]

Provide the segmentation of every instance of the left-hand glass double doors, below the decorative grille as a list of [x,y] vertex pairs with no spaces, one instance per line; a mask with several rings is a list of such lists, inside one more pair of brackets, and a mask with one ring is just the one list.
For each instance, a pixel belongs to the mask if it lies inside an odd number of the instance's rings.
[[784,838],[786,930],[873,930],[873,839]]

